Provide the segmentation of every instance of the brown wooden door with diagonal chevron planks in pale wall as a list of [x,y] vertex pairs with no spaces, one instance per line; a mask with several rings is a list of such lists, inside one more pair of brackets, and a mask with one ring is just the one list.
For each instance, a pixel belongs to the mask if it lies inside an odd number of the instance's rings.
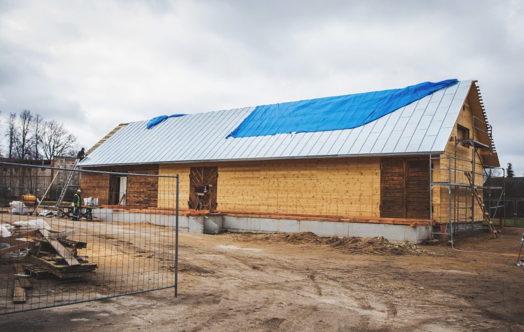
[[[216,182],[218,178],[217,167],[191,167],[188,201],[190,209],[209,209],[211,205],[213,210],[216,210]],[[204,196],[197,196],[194,185],[210,185],[210,190]]]

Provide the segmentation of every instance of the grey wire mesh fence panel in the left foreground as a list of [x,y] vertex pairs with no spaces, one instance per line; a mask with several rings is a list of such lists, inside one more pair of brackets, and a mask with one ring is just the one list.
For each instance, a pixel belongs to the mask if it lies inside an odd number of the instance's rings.
[[0,166],[0,314],[169,287],[176,295],[178,176],[48,167],[80,179],[79,197],[57,205],[56,184],[35,166]]

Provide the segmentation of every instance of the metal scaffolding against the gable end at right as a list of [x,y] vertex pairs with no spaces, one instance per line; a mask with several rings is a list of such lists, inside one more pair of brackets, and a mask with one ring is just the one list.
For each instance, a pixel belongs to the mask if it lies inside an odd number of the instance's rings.
[[[504,168],[493,167],[496,148],[493,143],[492,126],[487,121],[472,116],[472,129],[470,137],[455,138],[453,155],[448,153],[430,154],[429,156],[430,204],[433,206],[433,189],[437,188],[441,202],[439,205],[440,222],[437,221],[437,223],[444,226],[444,232],[442,229],[433,230],[433,234],[444,233],[445,236],[449,235],[453,238],[453,235],[458,232],[471,231],[473,233],[475,230],[485,229],[483,222],[486,219],[488,228],[496,237],[492,218],[497,212],[500,215],[499,209],[504,210],[505,216],[505,206],[501,202],[504,202],[505,199],[504,178],[506,175]],[[481,136],[484,136],[484,142],[487,138],[489,144],[482,143]],[[457,156],[459,145],[470,148],[471,157],[464,157],[463,154]],[[496,180],[495,178],[500,178],[500,174],[502,180]],[[442,188],[447,189],[446,222],[444,222],[445,209],[442,206],[445,200],[442,194],[445,191],[441,190]],[[483,202],[484,198],[487,198],[487,206]],[[431,208],[431,220],[433,220],[433,214],[433,208]]]

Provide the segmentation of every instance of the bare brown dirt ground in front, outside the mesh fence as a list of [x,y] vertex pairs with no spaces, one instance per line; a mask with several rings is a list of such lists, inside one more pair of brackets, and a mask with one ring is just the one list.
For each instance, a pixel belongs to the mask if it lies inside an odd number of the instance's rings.
[[522,232],[455,239],[460,250],[514,256],[181,232],[178,297],[170,288],[9,314],[0,331],[524,331]]

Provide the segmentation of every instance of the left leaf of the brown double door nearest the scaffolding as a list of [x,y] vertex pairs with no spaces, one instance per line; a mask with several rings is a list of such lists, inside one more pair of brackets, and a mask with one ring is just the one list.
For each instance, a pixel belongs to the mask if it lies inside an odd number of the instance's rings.
[[406,163],[380,160],[380,217],[406,218]]

